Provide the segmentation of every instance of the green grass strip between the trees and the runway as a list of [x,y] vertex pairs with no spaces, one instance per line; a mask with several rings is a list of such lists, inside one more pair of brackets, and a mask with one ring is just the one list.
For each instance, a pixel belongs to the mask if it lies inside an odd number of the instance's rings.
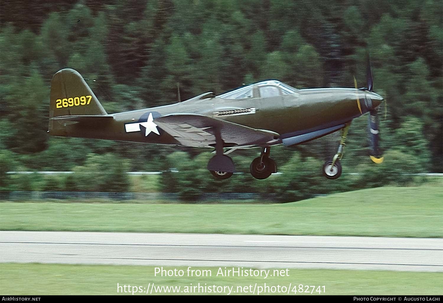
[[0,203],[2,230],[443,237],[443,189],[383,187],[270,205]]

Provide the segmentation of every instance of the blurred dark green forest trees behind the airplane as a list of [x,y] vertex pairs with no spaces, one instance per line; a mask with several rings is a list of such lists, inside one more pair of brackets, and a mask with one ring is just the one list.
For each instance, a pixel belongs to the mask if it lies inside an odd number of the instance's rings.
[[[416,174],[443,172],[442,12],[441,0],[2,1],[0,189],[173,193],[189,201],[254,193],[288,202],[433,182]],[[339,134],[272,148],[279,173],[266,180],[249,174],[260,150],[235,151],[239,174],[224,181],[206,170],[208,149],[47,135],[51,78],[65,67],[116,113],[177,102],[178,85],[181,100],[271,78],[313,88],[354,87],[355,76],[364,87],[366,51],[374,91],[387,100],[385,162],[370,161],[361,117],[338,180],[321,170]],[[135,171],[155,174],[128,174]]]

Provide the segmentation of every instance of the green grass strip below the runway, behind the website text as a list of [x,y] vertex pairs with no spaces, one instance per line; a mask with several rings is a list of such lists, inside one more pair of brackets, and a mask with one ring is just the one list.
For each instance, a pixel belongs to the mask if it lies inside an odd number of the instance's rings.
[[[174,268],[164,267],[166,270]],[[119,286],[131,285],[131,291],[132,286],[148,287],[149,283],[157,286],[180,286],[181,290],[185,286],[189,287],[191,283],[193,286],[206,283],[207,286],[233,286],[232,290],[236,292],[231,295],[238,294],[237,286],[249,288],[249,285],[252,285],[254,288],[255,284],[264,286],[264,283],[270,287],[277,285],[288,287],[291,284],[291,290],[296,285],[297,291],[299,284],[325,286],[325,293],[322,292],[322,295],[443,294],[443,274],[434,272],[289,269],[289,276],[268,276],[264,279],[250,276],[216,276],[217,267],[192,267],[200,270],[210,269],[212,276],[188,277],[187,267],[176,268],[183,269],[184,276],[154,276],[154,266],[0,264],[0,285],[4,295],[117,295],[117,283]],[[273,270],[274,268],[270,273]],[[311,290],[312,288],[309,288],[309,291]],[[132,292],[118,294],[132,295]],[[295,293],[290,292],[290,294]],[[296,295],[301,295],[301,293],[297,292]],[[312,295],[318,295],[318,293],[314,292]]]

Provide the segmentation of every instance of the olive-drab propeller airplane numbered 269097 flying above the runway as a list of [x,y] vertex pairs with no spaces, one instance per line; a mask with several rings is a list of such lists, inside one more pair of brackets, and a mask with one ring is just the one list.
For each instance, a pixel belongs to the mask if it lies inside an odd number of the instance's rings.
[[251,175],[266,179],[277,172],[271,146],[303,144],[341,131],[334,157],[323,165],[323,175],[342,173],[346,136],[351,121],[369,113],[370,158],[383,162],[378,147],[377,111],[383,97],[373,92],[368,61],[367,88],[295,89],[277,80],[245,85],[221,95],[202,93],[171,105],[123,113],[106,113],[85,79],[73,69],[62,69],[51,82],[49,134],[52,136],[213,148],[207,169],[215,179],[236,171],[228,154],[237,149],[261,148],[250,165]]

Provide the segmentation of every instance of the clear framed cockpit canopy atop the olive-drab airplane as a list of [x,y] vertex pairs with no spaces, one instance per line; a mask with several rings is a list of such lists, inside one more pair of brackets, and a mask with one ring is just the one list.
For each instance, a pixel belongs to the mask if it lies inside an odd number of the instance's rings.
[[297,89],[277,80],[267,80],[219,95],[223,99],[267,98],[297,93]]

